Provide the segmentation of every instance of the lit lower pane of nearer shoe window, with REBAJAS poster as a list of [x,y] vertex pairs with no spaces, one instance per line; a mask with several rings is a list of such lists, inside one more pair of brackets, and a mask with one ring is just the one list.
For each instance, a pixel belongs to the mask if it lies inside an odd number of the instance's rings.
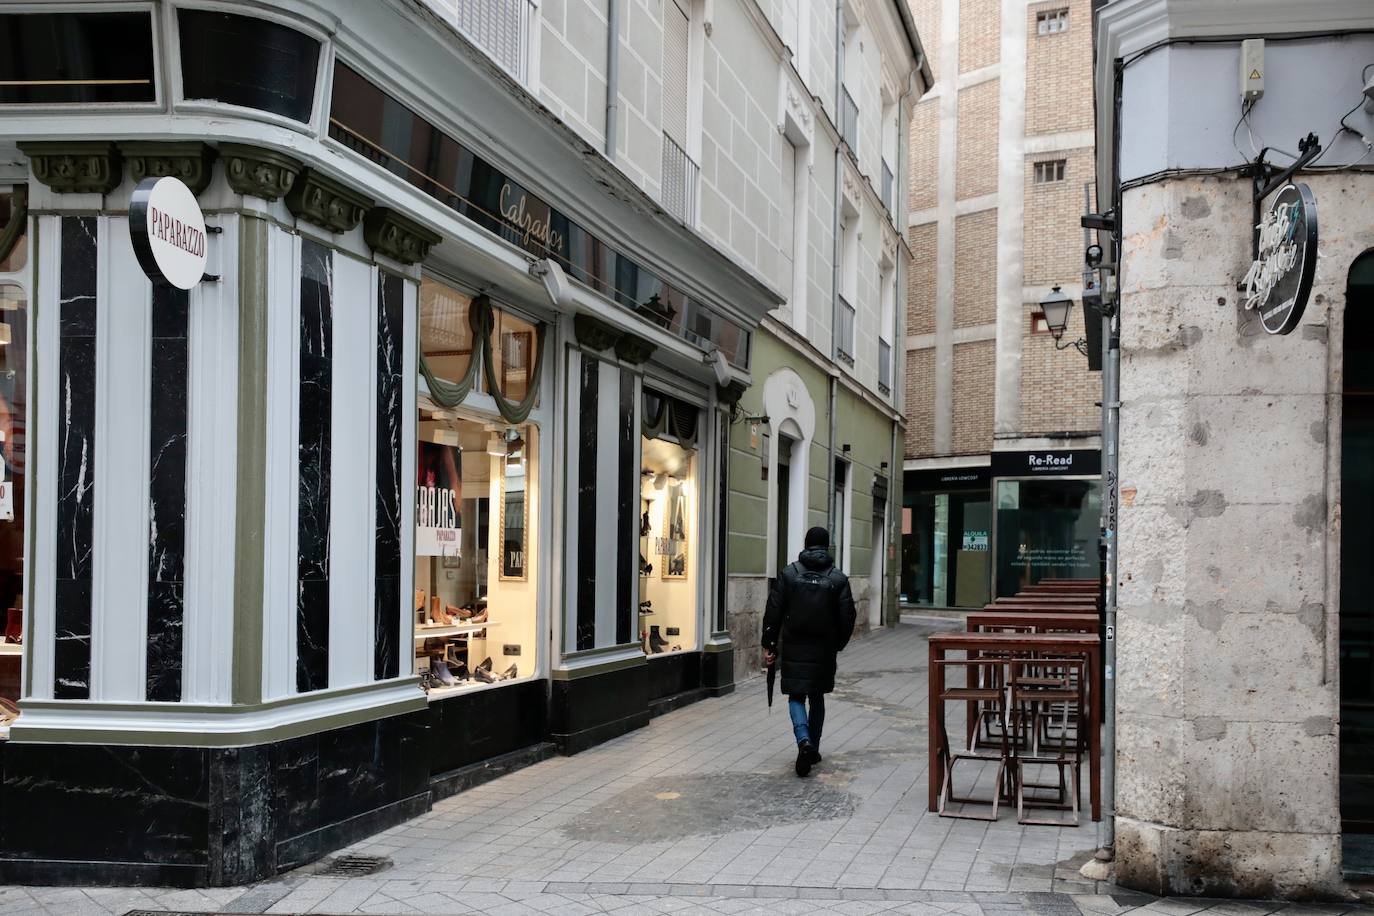
[[415,672],[430,696],[534,674],[537,441],[533,424],[420,412]]

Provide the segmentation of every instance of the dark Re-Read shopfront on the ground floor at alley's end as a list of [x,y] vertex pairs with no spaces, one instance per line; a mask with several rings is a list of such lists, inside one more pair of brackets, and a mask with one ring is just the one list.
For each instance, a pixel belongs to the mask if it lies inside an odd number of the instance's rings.
[[901,602],[980,608],[1044,578],[1098,578],[1102,453],[1092,448],[908,459]]

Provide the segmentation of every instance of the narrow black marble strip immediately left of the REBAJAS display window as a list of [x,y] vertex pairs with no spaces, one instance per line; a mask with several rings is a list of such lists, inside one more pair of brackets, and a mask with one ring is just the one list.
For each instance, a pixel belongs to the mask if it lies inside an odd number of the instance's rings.
[[401,652],[401,398],[405,365],[401,277],[385,271],[376,280],[376,570],[374,676],[397,677]]

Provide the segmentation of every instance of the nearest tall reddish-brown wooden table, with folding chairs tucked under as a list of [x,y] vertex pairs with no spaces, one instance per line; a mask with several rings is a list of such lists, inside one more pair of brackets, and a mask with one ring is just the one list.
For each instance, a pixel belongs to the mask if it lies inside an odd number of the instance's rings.
[[[1083,655],[1088,659],[1090,684],[1098,684],[1102,670],[1102,644],[1091,633],[932,633],[927,639],[929,663],[929,761],[926,764],[927,797],[926,810],[940,809],[940,781],[944,776],[944,758],[949,754],[941,740],[944,735],[940,722],[944,717],[944,665],[936,665],[948,652],[1061,652]],[[1102,820],[1102,699],[1101,691],[1088,691],[1088,794],[1092,801],[1092,820]]]

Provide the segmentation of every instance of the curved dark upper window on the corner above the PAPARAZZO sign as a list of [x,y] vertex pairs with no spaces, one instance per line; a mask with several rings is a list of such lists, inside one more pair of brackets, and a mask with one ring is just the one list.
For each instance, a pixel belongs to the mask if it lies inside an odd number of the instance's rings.
[[181,95],[309,121],[320,43],[268,19],[179,10]]

